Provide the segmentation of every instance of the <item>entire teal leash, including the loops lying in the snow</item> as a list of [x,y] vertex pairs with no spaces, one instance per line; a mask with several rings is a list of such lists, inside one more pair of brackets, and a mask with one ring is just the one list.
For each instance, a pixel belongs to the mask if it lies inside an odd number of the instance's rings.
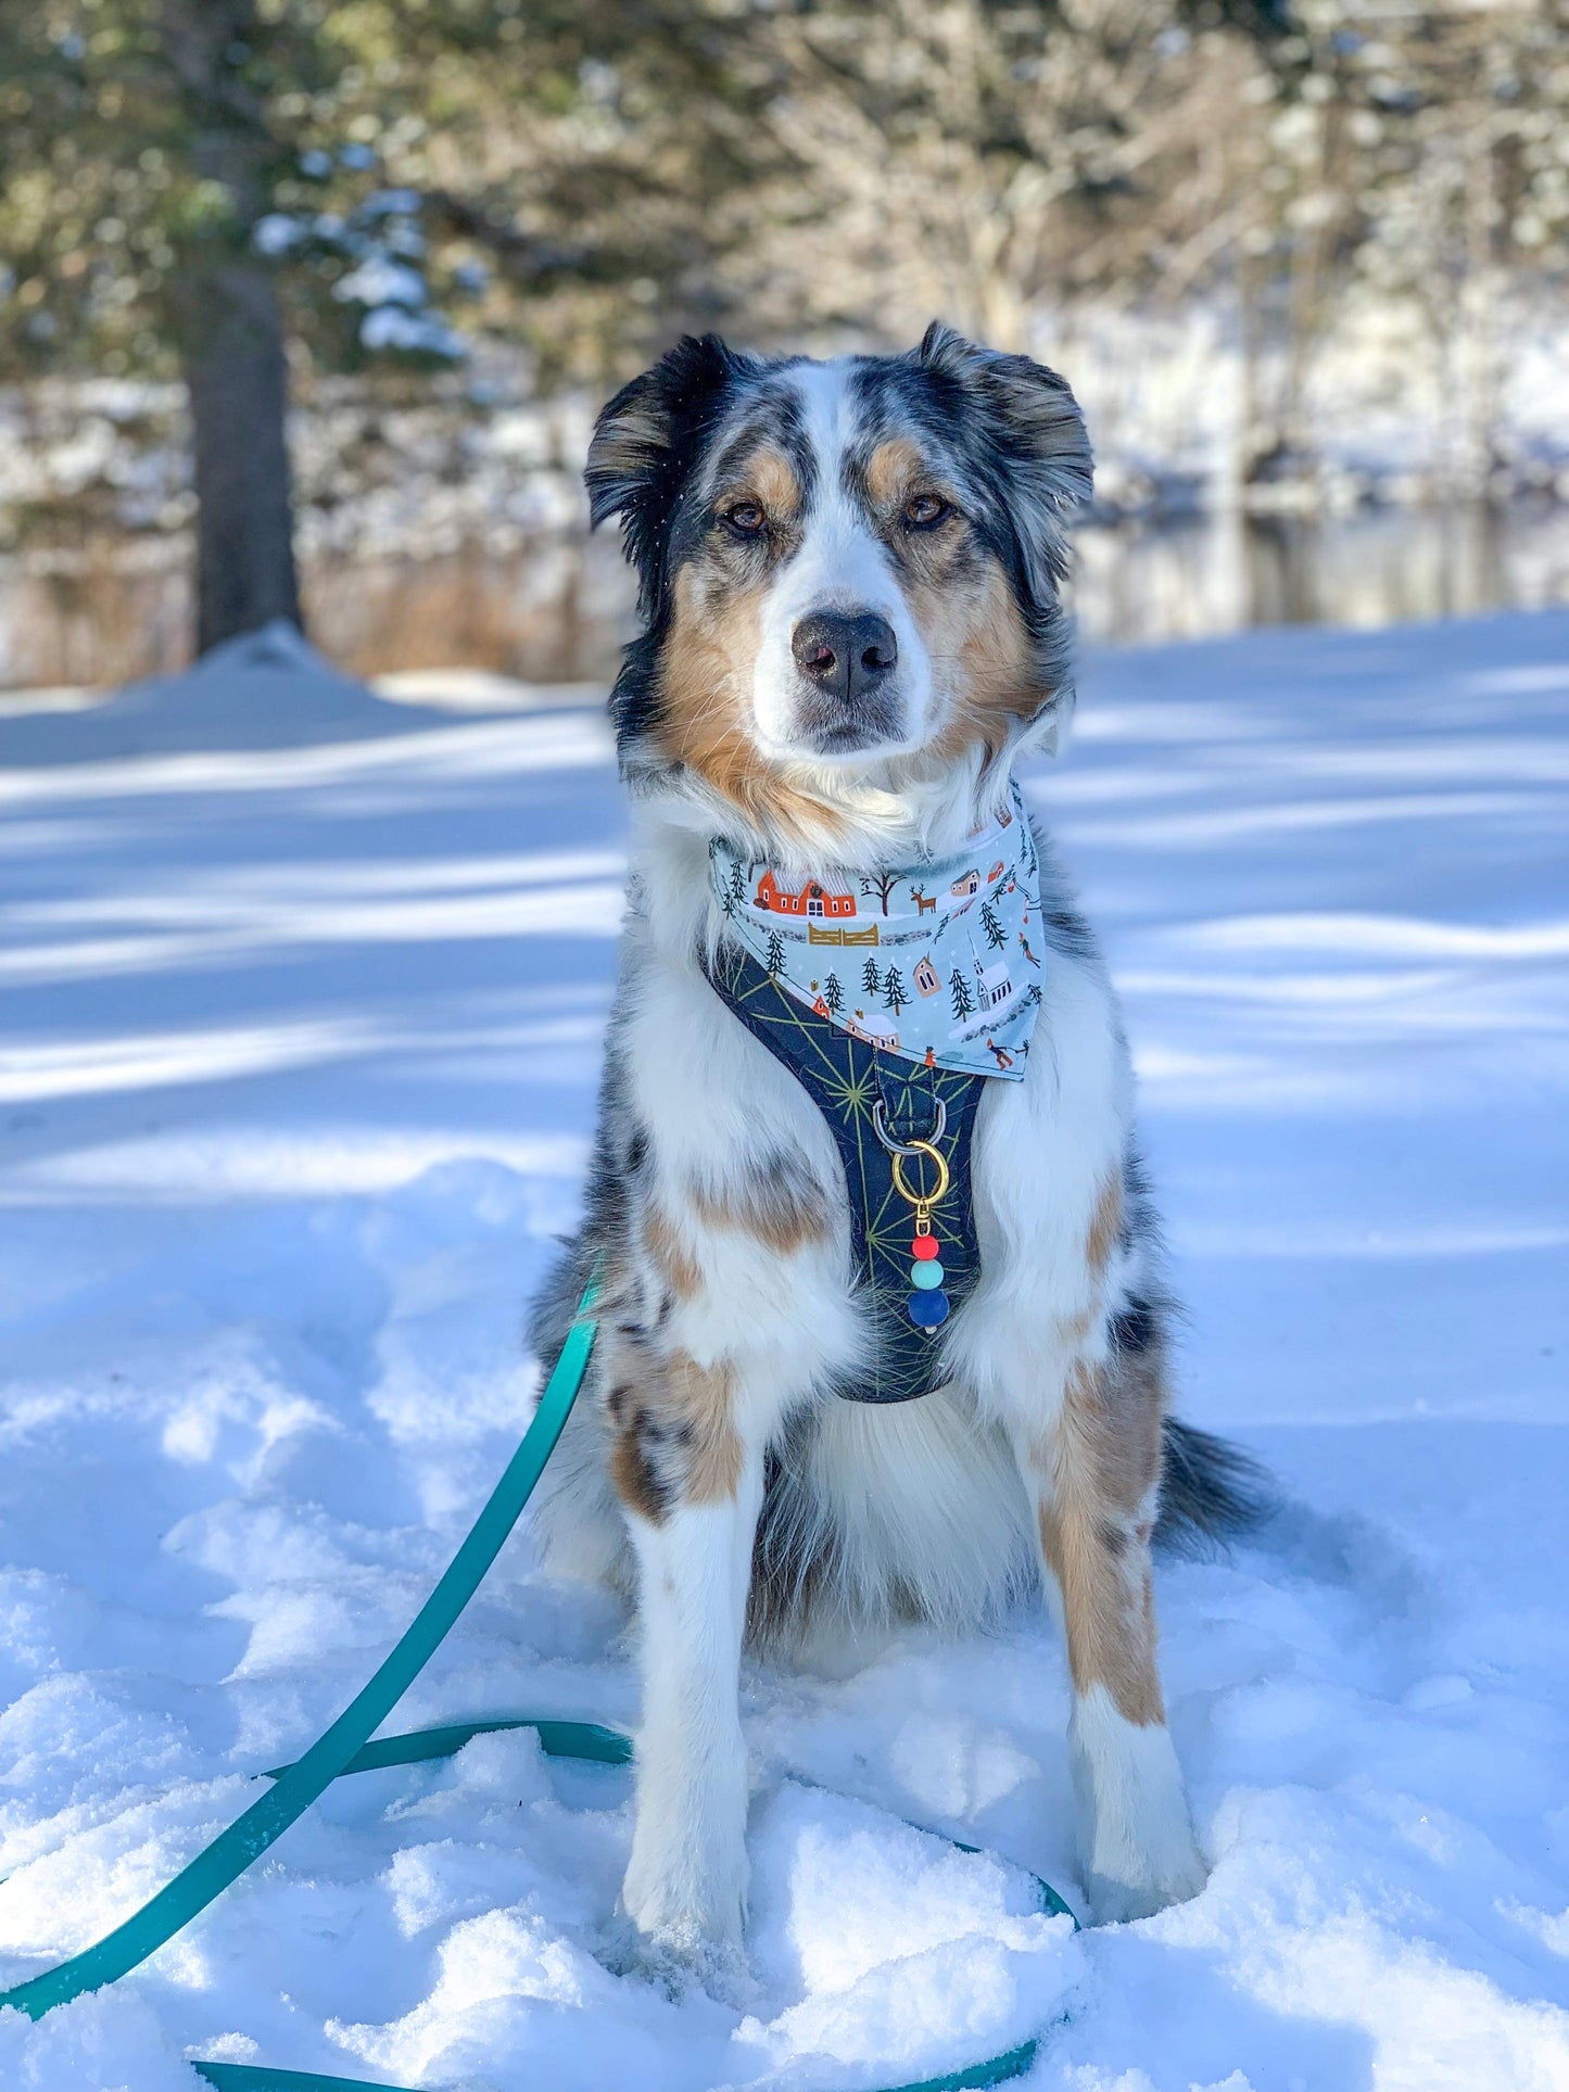
[[[397,1701],[408,1692],[458,1615],[473,1598],[485,1571],[502,1550],[502,1542],[519,1521],[523,1506],[544,1473],[556,1439],[571,1414],[577,1391],[588,1372],[594,1349],[596,1322],[592,1316],[598,1299],[598,1268],[577,1301],[577,1314],[561,1347],[561,1358],[546,1381],[540,1406],[533,1412],[523,1441],[506,1464],[506,1473],[496,1483],[485,1508],[473,1523],[469,1538],[452,1556],[439,1584],[414,1615],[397,1646],[374,1672],[370,1682],[349,1701],[333,1726],[289,1766],[276,1766],[264,1774],[274,1782],[272,1791],[253,1801],[228,1830],[184,1866],[167,1887],[159,1889],[140,1910],[132,1912],[123,1925],[105,1933],[94,1946],[84,1948],[54,1969],[17,1983],[15,1989],[0,1992],[0,2008],[15,2006],[29,2019],[42,2019],[56,2004],[69,2004],[86,1992],[103,1989],[128,1975],[149,1954],[157,1954],[176,1933],[184,1931],[207,1904],[262,1858],[262,1854],[282,1837],[312,1801],[333,1784],[354,1772],[379,1772],[387,1766],[416,1766],[427,1759],[452,1757],[475,1736],[498,1734],[502,1730],[531,1728],[540,1736],[542,1749],[550,1757],[577,1757],[600,1766],[632,1764],[632,1738],[598,1722],[556,1722],[521,1715],[517,1720],[490,1722],[446,1722],[439,1728],[410,1730],[402,1736],[379,1736],[374,1730],[387,1720]],[[958,1845],[956,1839],[950,1843]],[[977,1851],[975,1845],[958,1845],[960,1851]],[[1069,1916],[1073,1912],[1061,1895],[1036,1877],[1040,1908],[1048,1916]],[[1077,1929],[1077,1918],[1073,1918]],[[971,2092],[971,2088],[1000,2086],[1023,2073],[1036,2061],[1040,2044],[1023,2042],[1006,2054],[975,2063],[969,2069],[950,2071],[943,2077],[923,2077],[918,2084],[893,2086],[889,2092]],[[372,2084],[366,2077],[322,2077],[316,2071],[282,2071],[255,2063],[199,2063],[195,2073],[213,2092],[408,2092],[402,2086]]]

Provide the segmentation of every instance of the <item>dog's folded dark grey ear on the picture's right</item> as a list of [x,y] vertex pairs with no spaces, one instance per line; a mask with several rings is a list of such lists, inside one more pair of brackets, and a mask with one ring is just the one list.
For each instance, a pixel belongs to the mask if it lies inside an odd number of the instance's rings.
[[962,387],[979,410],[994,469],[1019,506],[1019,548],[1031,594],[1054,602],[1067,573],[1065,519],[1090,498],[1092,464],[1084,414],[1065,379],[1027,356],[1002,356],[933,320],[914,362]]

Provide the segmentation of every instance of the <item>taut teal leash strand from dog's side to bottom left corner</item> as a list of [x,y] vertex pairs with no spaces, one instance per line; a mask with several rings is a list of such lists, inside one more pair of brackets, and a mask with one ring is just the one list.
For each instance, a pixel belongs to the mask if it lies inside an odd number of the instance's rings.
[[[174,1939],[182,1927],[190,1925],[215,1895],[222,1895],[247,1866],[262,1858],[274,1839],[282,1837],[295,1818],[303,1816],[341,1772],[351,1768],[473,1598],[479,1579],[500,1554],[502,1542],[533,1494],[588,1370],[588,1358],[594,1349],[592,1308],[596,1297],[598,1272],[584,1289],[577,1316],[540,1395],[533,1423],[523,1433],[523,1443],[475,1519],[473,1531],[452,1556],[446,1575],[374,1678],[301,1759],[280,1770],[272,1791],[253,1801],[228,1830],[220,1830],[211,1845],[199,1851],[165,1889],[159,1889],[151,1902],[142,1904],[96,1946],[0,1994],[0,2006],[15,2004],[29,2019],[42,2019],[56,2004],[67,2004],[88,1989],[100,1989],[136,1969],[149,1954],[157,1954],[165,1941]],[[395,1759],[391,1761],[395,1764]],[[372,1757],[370,1764],[377,1759]]]

